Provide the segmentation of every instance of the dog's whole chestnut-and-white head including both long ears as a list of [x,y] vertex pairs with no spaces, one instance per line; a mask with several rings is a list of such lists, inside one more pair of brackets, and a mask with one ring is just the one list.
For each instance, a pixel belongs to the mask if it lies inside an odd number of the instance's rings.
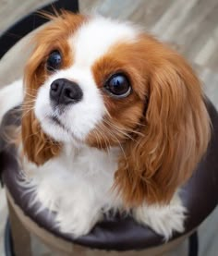
[[127,203],[168,201],[210,138],[199,80],[128,23],[63,13],[38,32],[25,70],[24,153],[42,165],[64,143],[121,148]]

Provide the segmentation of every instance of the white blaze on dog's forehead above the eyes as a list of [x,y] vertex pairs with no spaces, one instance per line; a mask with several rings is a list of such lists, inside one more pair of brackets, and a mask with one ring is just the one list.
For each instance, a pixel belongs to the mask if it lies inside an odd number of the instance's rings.
[[103,17],[92,18],[69,39],[74,52],[74,65],[90,67],[113,44],[134,42],[137,34],[138,30],[129,23]]

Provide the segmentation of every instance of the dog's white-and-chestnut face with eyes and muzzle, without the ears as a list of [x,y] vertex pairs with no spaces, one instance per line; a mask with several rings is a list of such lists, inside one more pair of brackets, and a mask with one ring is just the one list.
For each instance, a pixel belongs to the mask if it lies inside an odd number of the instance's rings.
[[44,80],[35,88],[34,114],[53,140],[117,145],[137,127],[146,104],[137,31],[103,18],[80,20],[77,26],[57,35],[57,43],[44,39],[49,49],[42,54]]

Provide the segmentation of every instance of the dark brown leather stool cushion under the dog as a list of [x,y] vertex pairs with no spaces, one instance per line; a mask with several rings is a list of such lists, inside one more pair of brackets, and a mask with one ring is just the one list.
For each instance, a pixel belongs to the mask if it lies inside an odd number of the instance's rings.
[[[181,190],[182,201],[188,208],[184,234],[199,226],[212,213],[218,202],[218,114],[208,100],[206,104],[212,119],[212,140],[197,170]],[[105,217],[101,223],[94,226],[89,235],[75,239],[73,235],[62,234],[58,230],[55,226],[55,213],[47,210],[38,213],[41,203],[38,201],[31,205],[31,193],[24,193],[24,189],[18,186],[20,170],[16,149],[9,146],[3,138],[6,126],[18,124],[19,116],[19,111],[10,111],[4,118],[0,129],[0,166],[1,171],[4,171],[6,188],[15,203],[31,220],[59,238],[95,249],[141,250],[163,244],[162,237],[156,235],[149,227],[139,226],[130,216]],[[172,239],[184,234],[175,233]]]

